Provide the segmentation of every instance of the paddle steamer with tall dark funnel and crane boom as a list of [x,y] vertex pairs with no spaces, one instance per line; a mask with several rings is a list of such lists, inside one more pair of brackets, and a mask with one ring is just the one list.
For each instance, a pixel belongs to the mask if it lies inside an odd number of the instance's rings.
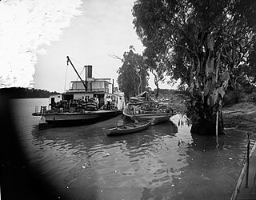
[[[67,63],[74,68],[69,57]],[[125,98],[121,92],[114,93],[114,80],[111,82],[110,78],[93,78],[92,66],[85,66],[85,69],[86,80],[82,80],[74,68],[80,80],[70,82],[70,89],[65,93],[50,96],[48,106],[35,107],[32,115],[41,117],[39,129],[48,125],[77,126],[94,123],[122,114]],[[109,99],[110,102],[107,102]]]

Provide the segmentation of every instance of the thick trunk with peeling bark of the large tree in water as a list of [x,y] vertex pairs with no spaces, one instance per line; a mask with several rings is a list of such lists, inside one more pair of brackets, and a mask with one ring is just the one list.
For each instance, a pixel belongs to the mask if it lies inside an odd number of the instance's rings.
[[[202,46],[198,49],[202,50]],[[218,76],[221,52],[214,54],[213,36],[208,35],[205,49],[204,53],[199,51],[194,61],[196,65],[190,75],[191,101],[187,114],[192,122],[190,132],[215,135],[218,130],[218,134],[224,134],[221,108],[230,74],[225,71],[221,77]],[[216,129],[216,119],[218,119],[218,129]]]

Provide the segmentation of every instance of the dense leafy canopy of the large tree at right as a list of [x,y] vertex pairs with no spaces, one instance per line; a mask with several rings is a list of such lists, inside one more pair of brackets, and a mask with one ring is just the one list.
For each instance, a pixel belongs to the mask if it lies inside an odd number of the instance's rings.
[[222,51],[222,66],[234,70],[248,61],[255,40],[255,10],[254,0],[138,0],[133,14],[147,58],[165,58],[172,78],[189,85],[190,70],[196,70],[194,58],[199,54],[207,59],[210,37],[214,55]]

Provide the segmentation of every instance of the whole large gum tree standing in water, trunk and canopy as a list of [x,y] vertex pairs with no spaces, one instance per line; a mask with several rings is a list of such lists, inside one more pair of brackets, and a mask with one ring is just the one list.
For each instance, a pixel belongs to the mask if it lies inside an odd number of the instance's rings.
[[[137,0],[136,32],[148,59],[166,56],[190,91],[191,133],[223,134],[222,98],[255,42],[254,0]],[[149,56],[150,55],[150,56]]]

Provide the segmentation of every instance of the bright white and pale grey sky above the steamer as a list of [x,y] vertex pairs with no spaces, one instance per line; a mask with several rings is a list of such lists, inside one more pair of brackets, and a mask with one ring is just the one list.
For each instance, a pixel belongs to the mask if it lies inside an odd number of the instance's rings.
[[[142,54],[132,23],[134,0],[13,0],[0,2],[0,87],[63,92],[93,66],[94,78],[112,78],[129,46]],[[73,58],[73,59],[72,59]],[[83,78],[83,74],[82,74]],[[150,75],[150,87],[154,86]],[[168,88],[160,84],[160,88]]]

